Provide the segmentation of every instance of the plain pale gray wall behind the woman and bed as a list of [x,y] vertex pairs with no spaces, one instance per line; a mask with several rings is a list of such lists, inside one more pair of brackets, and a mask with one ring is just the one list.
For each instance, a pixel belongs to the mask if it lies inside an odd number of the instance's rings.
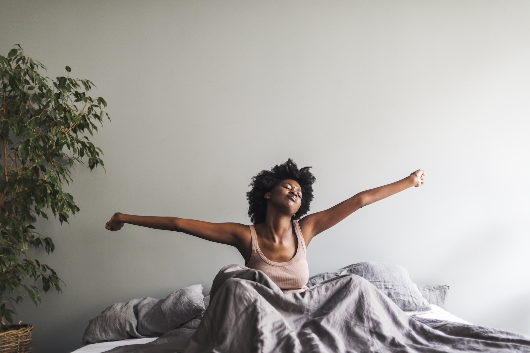
[[21,44],[48,76],[92,80],[112,122],[77,166],[81,212],[39,221],[66,282],[29,300],[37,352],[81,346],[114,302],[200,283],[236,249],[126,225],[114,212],[248,224],[253,175],[313,166],[312,211],[416,169],[425,185],[316,237],[310,274],[399,264],[451,286],[449,312],[530,334],[530,2],[0,2],[0,54]]

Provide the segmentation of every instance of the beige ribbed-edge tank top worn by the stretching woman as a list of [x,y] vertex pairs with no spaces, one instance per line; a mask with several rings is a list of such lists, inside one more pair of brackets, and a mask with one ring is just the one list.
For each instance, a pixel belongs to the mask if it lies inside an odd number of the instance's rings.
[[305,240],[298,221],[293,221],[298,246],[295,256],[285,263],[275,263],[263,255],[258,245],[256,230],[251,224],[250,235],[252,238],[252,254],[246,267],[263,271],[272,282],[276,283],[284,293],[300,293],[306,289],[309,280],[309,267],[305,258]]

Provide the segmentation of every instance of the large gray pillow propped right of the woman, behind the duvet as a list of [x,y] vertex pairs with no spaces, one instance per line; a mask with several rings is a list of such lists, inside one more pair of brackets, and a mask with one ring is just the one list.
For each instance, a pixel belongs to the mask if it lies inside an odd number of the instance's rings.
[[425,312],[430,310],[429,303],[421,296],[418,286],[409,278],[409,272],[398,265],[365,261],[313,276],[306,286],[311,288],[323,280],[347,274],[361,276],[368,280],[403,311]]

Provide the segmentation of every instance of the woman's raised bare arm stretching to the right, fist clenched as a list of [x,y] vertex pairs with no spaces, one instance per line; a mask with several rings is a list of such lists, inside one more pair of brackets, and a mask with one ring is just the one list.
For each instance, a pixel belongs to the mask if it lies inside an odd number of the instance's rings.
[[425,171],[421,169],[416,170],[408,177],[398,180],[395,183],[360,192],[328,210],[305,216],[300,220],[299,224],[304,235],[306,246],[316,234],[333,227],[333,225],[339,223],[361,207],[383,200],[383,198],[397,194],[411,186],[419,187],[423,185],[424,176]]

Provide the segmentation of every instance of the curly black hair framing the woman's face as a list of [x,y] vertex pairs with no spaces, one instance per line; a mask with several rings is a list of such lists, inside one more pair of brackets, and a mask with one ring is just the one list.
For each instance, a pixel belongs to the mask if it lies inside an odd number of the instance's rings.
[[267,200],[263,196],[285,179],[296,180],[302,188],[302,204],[293,220],[298,220],[309,212],[309,205],[313,201],[313,183],[316,180],[309,168],[311,167],[298,169],[296,163],[289,158],[285,163],[274,166],[270,170],[262,170],[254,176],[252,183],[249,184],[252,189],[246,193],[246,200],[249,201],[250,221],[253,224],[265,221]]

